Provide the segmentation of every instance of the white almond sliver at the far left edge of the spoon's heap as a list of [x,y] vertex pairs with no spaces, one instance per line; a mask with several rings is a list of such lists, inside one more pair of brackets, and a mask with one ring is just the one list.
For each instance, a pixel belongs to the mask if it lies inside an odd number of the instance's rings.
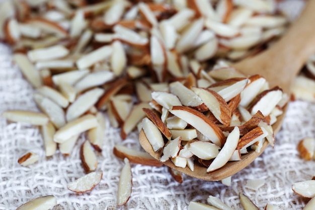
[[142,120],[142,129],[154,152],[164,147],[164,139],[159,128],[147,117]]

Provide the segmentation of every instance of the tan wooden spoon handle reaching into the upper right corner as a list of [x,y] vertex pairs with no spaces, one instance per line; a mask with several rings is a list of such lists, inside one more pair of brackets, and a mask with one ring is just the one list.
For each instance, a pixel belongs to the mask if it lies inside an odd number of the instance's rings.
[[315,1],[308,0],[300,17],[283,37],[264,52],[233,66],[247,75],[263,75],[270,87],[278,85],[285,92],[307,58],[315,53]]

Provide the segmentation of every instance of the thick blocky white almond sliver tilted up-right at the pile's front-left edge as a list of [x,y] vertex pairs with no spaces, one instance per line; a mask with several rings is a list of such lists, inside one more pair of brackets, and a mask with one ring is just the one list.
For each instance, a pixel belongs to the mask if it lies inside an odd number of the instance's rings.
[[56,143],[63,143],[74,135],[80,134],[98,125],[98,121],[92,114],[84,115],[66,123],[54,134]]

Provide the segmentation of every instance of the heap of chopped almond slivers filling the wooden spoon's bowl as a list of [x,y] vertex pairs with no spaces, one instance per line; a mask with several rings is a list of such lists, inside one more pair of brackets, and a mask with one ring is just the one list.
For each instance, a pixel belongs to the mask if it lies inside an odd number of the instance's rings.
[[272,125],[287,95],[279,87],[269,88],[263,77],[246,78],[233,68],[220,67],[209,75],[217,80],[207,87],[189,79],[170,83],[169,91],[152,92],[154,110],[143,108],[142,129],[152,149],[163,150],[162,162],[171,159],[193,171],[197,160],[211,172],[242,160],[249,150],[260,152],[265,141],[274,146]]

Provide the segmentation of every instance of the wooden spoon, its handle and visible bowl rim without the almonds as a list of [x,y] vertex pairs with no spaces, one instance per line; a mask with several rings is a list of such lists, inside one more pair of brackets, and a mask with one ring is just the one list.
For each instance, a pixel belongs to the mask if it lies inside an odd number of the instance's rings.
[[[292,81],[307,58],[315,53],[315,28],[312,26],[315,23],[314,11],[315,1],[308,0],[300,17],[277,43],[254,57],[235,63],[233,67],[245,75],[260,74],[267,79],[271,88],[279,86],[284,92],[290,93]],[[273,125],[275,133],[280,130],[283,118],[284,114],[279,116]],[[152,150],[143,130],[139,134],[139,142],[147,153],[157,160],[160,159],[162,151]],[[260,153],[251,151],[243,155],[241,161],[227,162],[222,168],[210,173],[206,172],[206,167],[199,164],[195,164],[194,171],[188,167],[176,167],[171,160],[164,164],[198,179],[217,181],[241,171],[262,154],[267,146],[268,142],[265,141]]]

